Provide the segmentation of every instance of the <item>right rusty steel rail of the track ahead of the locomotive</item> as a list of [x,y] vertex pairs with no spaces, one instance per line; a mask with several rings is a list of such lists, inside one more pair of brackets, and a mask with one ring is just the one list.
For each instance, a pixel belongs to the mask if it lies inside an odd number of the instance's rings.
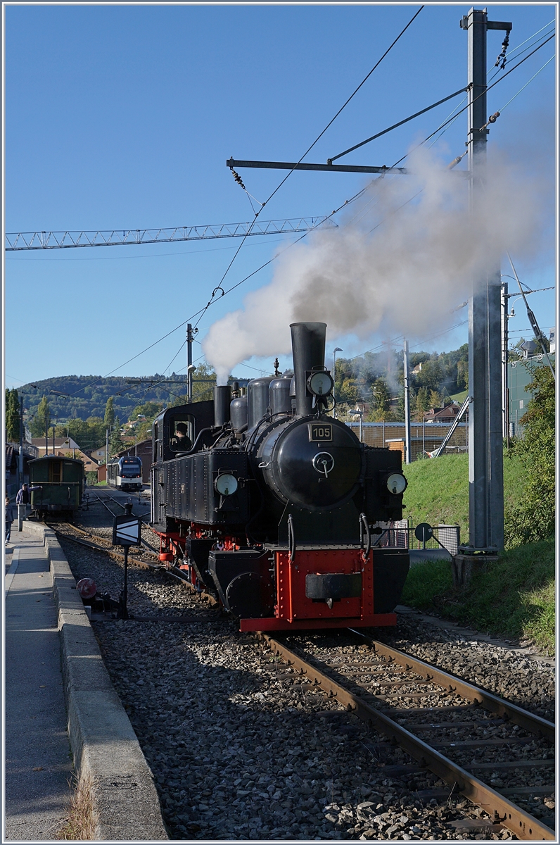
[[400,666],[408,670],[413,670],[421,678],[433,681],[435,684],[443,686],[443,688],[450,692],[455,692],[462,695],[467,701],[472,701],[473,704],[480,704],[486,707],[487,710],[496,713],[497,716],[503,716],[510,719],[520,728],[536,733],[546,739],[551,739],[554,742],[556,736],[556,726],[554,722],[548,722],[541,716],[536,716],[512,704],[510,701],[504,701],[503,698],[498,698],[487,690],[481,690],[480,687],[474,684],[469,684],[468,681],[458,678],[449,672],[444,672],[443,669],[438,669],[430,663],[419,660],[417,657],[411,657],[410,654],[405,654],[404,651],[399,651],[396,648],[386,646],[383,642],[372,640],[371,637],[362,634],[353,628],[349,629],[353,634],[358,635],[362,640],[367,641],[372,646],[373,651],[380,657],[385,657],[391,662],[398,663]]

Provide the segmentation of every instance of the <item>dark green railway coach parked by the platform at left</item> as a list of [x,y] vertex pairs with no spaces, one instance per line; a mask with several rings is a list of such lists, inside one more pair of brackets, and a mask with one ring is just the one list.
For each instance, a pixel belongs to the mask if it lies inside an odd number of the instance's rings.
[[72,516],[82,504],[85,472],[82,461],[46,455],[29,462],[31,512],[39,519],[44,516]]

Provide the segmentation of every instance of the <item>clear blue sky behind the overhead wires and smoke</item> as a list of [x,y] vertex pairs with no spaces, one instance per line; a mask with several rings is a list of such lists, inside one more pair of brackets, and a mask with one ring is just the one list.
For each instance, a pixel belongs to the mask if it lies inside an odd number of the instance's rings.
[[[318,3],[6,8],[6,231],[251,220],[247,195],[231,177],[226,158],[299,159],[417,8]],[[459,18],[469,8],[424,8],[307,161],[325,161],[465,85],[467,39]],[[555,14],[553,3],[488,6],[489,19],[513,23],[510,52]],[[502,39],[499,31],[488,34],[489,67]],[[536,74],[554,44],[489,93],[489,114]],[[514,58],[506,69],[513,64]],[[529,172],[535,161],[548,163],[551,182],[555,82],[552,61],[507,106],[489,135],[489,145],[513,150]],[[393,164],[459,100],[342,161]],[[465,137],[464,114],[438,142],[442,155],[449,161],[460,155]],[[263,200],[285,172],[241,175],[250,193]],[[329,214],[365,184],[360,174],[293,173],[261,219]],[[228,286],[291,240],[248,238],[227,275]],[[208,302],[238,243],[6,254],[6,384],[70,373],[179,372],[185,367],[184,328],[135,356]],[[519,263],[522,281],[554,285],[553,245],[530,265]],[[216,319],[239,308],[247,292],[269,283],[273,267],[209,308],[198,339]],[[505,262],[503,272],[509,272]],[[555,323],[554,303],[552,291],[530,297],[546,330]],[[517,316],[510,321],[514,339],[522,332],[530,336],[522,305],[516,303]],[[464,319],[466,309],[457,322]],[[356,355],[378,340],[372,336],[364,346],[346,337],[340,345],[345,355]],[[463,325],[420,346],[453,349],[465,341]],[[329,339],[330,346],[334,342]],[[199,346],[194,354],[200,355]],[[254,359],[247,364],[236,373],[250,376],[257,374],[250,367],[269,368]]]

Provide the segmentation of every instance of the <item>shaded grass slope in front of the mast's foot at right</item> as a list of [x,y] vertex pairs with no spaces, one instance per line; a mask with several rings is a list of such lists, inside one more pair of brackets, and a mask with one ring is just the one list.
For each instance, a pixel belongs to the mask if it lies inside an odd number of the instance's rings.
[[554,653],[554,540],[509,549],[465,591],[451,586],[451,564],[432,561],[410,570],[401,601],[489,634],[529,639]]

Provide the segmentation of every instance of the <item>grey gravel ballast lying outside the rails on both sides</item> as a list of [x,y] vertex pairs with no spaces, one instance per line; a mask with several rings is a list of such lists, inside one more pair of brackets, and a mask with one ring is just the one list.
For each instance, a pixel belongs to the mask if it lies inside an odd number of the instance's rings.
[[[90,575],[101,591],[118,597],[122,567],[116,561],[61,542],[77,579]],[[164,573],[129,568],[128,595],[132,613],[209,614],[208,605]],[[467,661],[470,655],[468,666],[489,689],[515,686],[534,701],[531,687],[544,683],[544,676],[520,671],[519,658],[492,657],[486,644],[446,640],[441,629],[411,625],[400,620],[391,634],[395,644],[442,666],[449,660],[461,673],[458,656]],[[299,677],[294,681],[285,664],[231,621],[93,627],[154,772],[171,838],[514,838],[508,831],[483,832],[484,814],[460,796],[443,804],[422,801],[418,790],[443,787],[429,772],[384,776],[383,766],[410,760],[335,701]],[[364,647],[348,642],[348,653]],[[529,809],[549,816],[552,807],[545,802]],[[465,818],[474,827],[461,828]]]

